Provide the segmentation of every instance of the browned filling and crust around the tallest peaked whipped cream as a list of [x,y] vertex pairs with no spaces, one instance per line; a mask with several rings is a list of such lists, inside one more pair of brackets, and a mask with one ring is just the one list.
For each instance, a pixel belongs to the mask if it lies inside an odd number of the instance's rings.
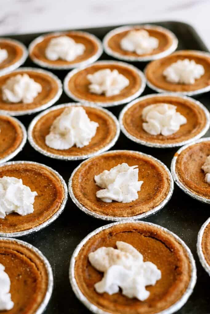
[[45,137],[50,132],[50,127],[54,120],[61,115],[66,107],[50,111],[43,117],[41,117],[35,124],[32,132],[33,139],[35,143],[52,154],[63,155],[63,156],[79,156],[94,153],[99,149],[105,147],[116,135],[116,124],[114,120],[97,108],[85,107],[82,108],[86,111],[88,117],[91,121],[98,122],[99,127],[97,127],[95,136],[91,139],[87,146],[82,148],[77,148],[76,146],[70,149],[53,149],[45,144]]

